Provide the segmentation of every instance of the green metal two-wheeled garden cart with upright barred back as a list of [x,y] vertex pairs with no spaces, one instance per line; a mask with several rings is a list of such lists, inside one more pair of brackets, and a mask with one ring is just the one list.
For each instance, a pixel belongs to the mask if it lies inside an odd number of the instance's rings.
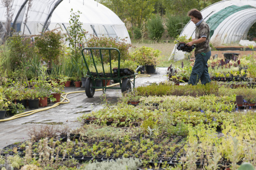
[[[92,64],[95,67],[96,72],[92,73],[89,69],[89,65],[85,60],[85,56],[84,56],[84,51],[86,50],[86,52],[89,52],[89,55],[91,56],[92,59]],[[117,74],[112,73],[112,64],[111,64],[111,51],[117,51],[118,52],[118,68],[117,68]],[[96,53],[95,51],[98,51],[97,53],[99,53],[99,59],[101,61],[102,64],[102,69],[103,69],[103,73],[99,73],[97,68],[96,68],[96,64],[95,64],[95,56],[93,55],[93,53]],[[110,63],[110,73],[105,73],[104,70],[104,62],[103,62],[103,58],[102,58],[102,51],[108,51],[108,57],[109,57],[109,63]],[[95,92],[95,89],[102,89],[103,93],[105,93],[105,91],[107,89],[121,89],[122,93],[123,92],[129,92],[131,91],[131,83],[133,84],[133,88],[135,87],[135,76],[138,73],[133,73],[133,74],[129,74],[129,75],[123,75],[121,76],[120,74],[120,51],[116,48],[84,48],[82,49],[82,56],[83,56],[83,60],[85,62],[85,66],[87,69],[87,74],[86,74],[86,81],[85,81],[85,94],[87,97],[92,98]],[[133,78],[133,82],[130,80],[130,78]],[[105,83],[104,86],[96,86],[96,81],[99,80],[101,81],[101,83],[103,84],[103,80],[105,82],[110,81],[110,80],[114,80],[115,82],[120,84],[120,87],[107,87],[107,83]]]

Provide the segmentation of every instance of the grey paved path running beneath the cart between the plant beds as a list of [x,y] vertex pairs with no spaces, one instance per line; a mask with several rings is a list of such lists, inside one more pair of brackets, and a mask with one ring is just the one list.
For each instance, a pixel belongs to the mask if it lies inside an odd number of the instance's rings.
[[[156,73],[151,74],[151,77],[142,77],[135,80],[135,87],[148,86],[151,83],[158,83],[167,80],[165,76],[167,68],[156,68]],[[84,88],[68,87],[65,92],[82,91]],[[10,121],[0,122],[0,149],[13,144],[17,141],[30,139],[28,131],[33,126],[42,126],[49,122],[61,124],[59,126],[68,126],[70,129],[76,129],[83,125],[83,122],[78,121],[78,117],[88,112],[99,110],[102,106],[101,96],[102,91],[95,91],[93,98],[87,98],[84,92],[72,93],[67,96],[70,100],[67,104],[61,104],[55,108],[37,112],[36,114],[17,118]],[[111,102],[117,102],[121,97],[120,89],[107,89],[106,97]]]

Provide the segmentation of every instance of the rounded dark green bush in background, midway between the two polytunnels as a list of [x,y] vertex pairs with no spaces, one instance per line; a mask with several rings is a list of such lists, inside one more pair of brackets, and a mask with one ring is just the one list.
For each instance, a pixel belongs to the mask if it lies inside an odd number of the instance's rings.
[[161,16],[154,16],[147,23],[148,37],[154,41],[159,41],[164,33],[164,25]]

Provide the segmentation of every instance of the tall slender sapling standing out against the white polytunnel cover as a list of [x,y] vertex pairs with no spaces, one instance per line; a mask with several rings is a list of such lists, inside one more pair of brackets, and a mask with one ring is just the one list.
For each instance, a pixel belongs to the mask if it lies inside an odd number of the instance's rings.
[[80,46],[83,44],[84,34],[86,31],[82,29],[83,23],[79,21],[80,11],[73,12],[71,9],[71,15],[69,19],[69,26],[67,27],[68,34],[66,35],[66,41],[69,42],[69,46],[72,48],[72,51],[75,55],[76,60],[78,59]]

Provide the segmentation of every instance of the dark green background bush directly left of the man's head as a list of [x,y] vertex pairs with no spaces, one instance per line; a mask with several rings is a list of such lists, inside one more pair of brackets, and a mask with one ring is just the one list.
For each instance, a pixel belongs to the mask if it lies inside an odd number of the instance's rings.
[[170,37],[176,37],[181,33],[184,26],[190,21],[188,16],[173,16],[171,14],[166,17],[167,32]]

